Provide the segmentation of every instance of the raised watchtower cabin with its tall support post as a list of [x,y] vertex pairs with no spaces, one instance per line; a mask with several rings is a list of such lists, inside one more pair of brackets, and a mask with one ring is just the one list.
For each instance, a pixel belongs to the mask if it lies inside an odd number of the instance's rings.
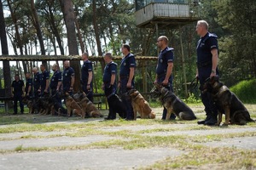
[[140,28],[179,29],[185,95],[188,96],[181,27],[200,20],[198,0],[135,0],[136,24]]

